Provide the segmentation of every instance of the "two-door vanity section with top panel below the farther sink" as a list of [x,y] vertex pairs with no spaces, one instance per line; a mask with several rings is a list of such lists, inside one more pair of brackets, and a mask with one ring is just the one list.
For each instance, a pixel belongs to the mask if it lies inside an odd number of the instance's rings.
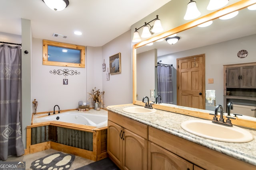
[[117,115],[110,111],[108,112],[107,151],[110,159],[113,160],[120,169],[148,169],[147,137],[147,125],[133,121],[122,115]]

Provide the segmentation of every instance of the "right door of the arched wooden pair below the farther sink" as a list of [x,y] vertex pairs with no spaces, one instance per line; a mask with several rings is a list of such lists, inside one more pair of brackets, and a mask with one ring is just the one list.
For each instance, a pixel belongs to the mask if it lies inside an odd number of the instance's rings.
[[148,169],[148,140],[124,129],[124,157],[125,170]]

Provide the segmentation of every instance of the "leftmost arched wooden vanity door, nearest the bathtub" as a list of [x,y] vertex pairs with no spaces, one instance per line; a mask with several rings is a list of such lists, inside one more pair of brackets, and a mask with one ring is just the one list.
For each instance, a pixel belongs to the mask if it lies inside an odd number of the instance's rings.
[[121,139],[123,128],[112,121],[108,121],[108,154],[122,167],[123,139]]

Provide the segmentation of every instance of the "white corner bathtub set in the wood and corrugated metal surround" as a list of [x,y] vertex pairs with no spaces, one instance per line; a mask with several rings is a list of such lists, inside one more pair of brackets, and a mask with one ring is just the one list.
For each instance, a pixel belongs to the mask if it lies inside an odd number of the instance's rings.
[[76,123],[81,125],[89,125],[96,127],[107,126],[108,115],[107,114],[94,114],[78,111],[68,111],[55,115],[45,116],[38,118],[40,122],[44,121],[62,121],[67,123]]

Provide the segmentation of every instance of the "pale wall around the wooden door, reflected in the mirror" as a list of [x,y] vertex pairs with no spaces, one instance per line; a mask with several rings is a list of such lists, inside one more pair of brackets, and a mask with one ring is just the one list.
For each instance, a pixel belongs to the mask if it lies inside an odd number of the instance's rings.
[[[256,62],[256,48],[255,48],[255,35],[250,35],[222,43],[208,45],[196,49],[186,50],[179,53],[173,53],[158,57],[158,61],[162,63],[173,64],[176,66],[176,59],[181,57],[188,57],[193,55],[205,54],[205,80],[206,90],[216,90],[216,104],[223,106],[223,65],[225,64],[240,64]],[[238,51],[245,49],[248,51],[246,58],[240,59],[237,57]],[[208,78],[213,78],[214,83],[208,84]],[[176,79],[174,79],[176,85]],[[176,91],[177,87],[174,86],[173,90]],[[174,96],[175,98],[176,96]],[[213,109],[212,107],[206,109]]]

